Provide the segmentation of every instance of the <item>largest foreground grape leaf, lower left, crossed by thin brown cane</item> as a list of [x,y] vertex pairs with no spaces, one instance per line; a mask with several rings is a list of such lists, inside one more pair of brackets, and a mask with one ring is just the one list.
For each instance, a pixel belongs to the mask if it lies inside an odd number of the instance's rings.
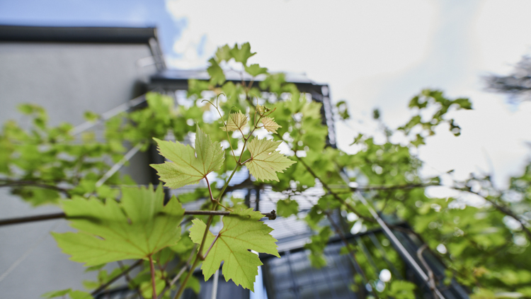
[[122,259],[145,259],[181,239],[184,209],[176,198],[164,205],[164,191],[122,188],[120,203],[74,197],[63,201],[70,225],[78,232],[52,232],[72,261],[86,266]]

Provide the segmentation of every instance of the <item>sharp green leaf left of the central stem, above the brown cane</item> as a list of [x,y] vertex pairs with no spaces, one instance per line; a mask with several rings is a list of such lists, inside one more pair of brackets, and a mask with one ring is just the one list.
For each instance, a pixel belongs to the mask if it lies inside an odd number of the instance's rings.
[[150,165],[156,169],[161,181],[166,183],[164,186],[169,188],[198,184],[200,179],[223,165],[224,152],[221,145],[219,142],[212,142],[200,128],[197,128],[195,135],[195,150],[190,145],[179,142],[153,139],[159,144],[161,155],[172,161]]

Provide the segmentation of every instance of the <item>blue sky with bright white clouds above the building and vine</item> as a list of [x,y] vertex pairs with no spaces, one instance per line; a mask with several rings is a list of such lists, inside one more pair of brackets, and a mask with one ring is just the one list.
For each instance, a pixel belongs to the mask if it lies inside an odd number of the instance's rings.
[[205,1],[0,0],[0,23],[58,26],[157,26],[166,62],[199,68],[218,46],[251,43],[249,62],[305,73],[345,100],[352,119],[336,123],[339,147],[374,132],[373,108],[391,128],[422,89],[468,97],[474,111],[451,115],[418,151],[426,175],[455,169],[493,174],[498,186],[523,170],[530,153],[531,103],[486,93],[481,76],[507,74],[531,52],[531,1]]

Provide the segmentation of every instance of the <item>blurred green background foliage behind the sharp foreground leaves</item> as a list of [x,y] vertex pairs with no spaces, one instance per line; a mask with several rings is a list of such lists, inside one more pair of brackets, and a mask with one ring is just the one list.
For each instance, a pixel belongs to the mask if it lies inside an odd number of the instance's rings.
[[[388,128],[382,115],[375,110],[374,121],[379,123],[386,140],[375,142],[372,135],[358,135],[350,145],[355,147],[355,154],[347,154],[326,145],[328,130],[322,123],[321,104],[312,101],[309,94],[300,93],[294,84],[287,83],[283,74],[270,74],[258,64],[248,65],[247,59],[254,54],[249,44],[220,47],[210,60],[210,81],[190,80],[185,101],[176,103],[171,96],[149,93],[146,106],[106,120],[101,136],[95,132],[74,136],[71,124],[48,125],[47,114],[41,107],[19,106],[29,124],[8,120],[2,126],[0,186],[10,188],[11,193],[31,205],[56,205],[60,198],[72,196],[115,200],[119,197],[119,186],[135,185],[135,181],[119,172],[104,181],[101,179],[130,148],[146,151],[153,145],[153,137],[164,139],[169,135],[175,140],[190,142],[197,126],[212,140],[222,141],[226,163],[217,171],[216,182],[223,182],[236,167],[231,148],[239,153],[236,149],[241,147],[242,140],[220,130],[220,116],[205,100],[218,105],[224,118],[241,110],[251,113],[252,119],[259,104],[275,109],[271,116],[282,128],[273,139],[282,140],[282,152],[298,162],[279,174],[278,182],[267,183],[274,191],[288,195],[278,202],[278,214],[298,217],[297,201],[290,197],[316,184],[326,189],[326,195],[304,216],[316,232],[312,242],[306,245],[312,252],[310,261],[314,266],[326,263],[323,250],[333,235],[333,227],[321,227],[320,220],[330,211],[341,211],[348,232],[355,226],[362,230],[378,227],[367,208],[353,196],[356,191],[362,191],[389,225],[396,220],[409,223],[412,232],[428,245],[427,250],[447,267],[445,283],[455,278],[471,290],[473,298],[531,298],[528,223],[531,218],[531,164],[527,164],[521,175],[511,177],[508,188],[503,189],[494,187],[489,175],[456,181],[451,171],[433,177],[419,174],[423,162],[417,157],[418,148],[435,135],[435,128],[443,126],[456,137],[461,130],[466,130],[448,118],[447,113],[472,109],[467,98],[451,99],[442,91],[423,90],[409,102],[413,116],[404,120],[399,128]],[[229,62],[238,65],[242,74],[246,72],[256,78],[257,84],[226,81],[223,67]],[[350,117],[348,109],[346,102],[337,103],[336,115],[340,121]],[[99,121],[94,113],[87,112],[85,116],[88,121]],[[265,186],[260,181],[250,183],[258,188]],[[451,190],[453,196],[428,196],[426,188]],[[219,191],[214,189],[216,196]],[[181,194],[179,200],[187,203],[206,195],[206,188],[197,188]],[[243,205],[239,198],[226,198],[225,202],[230,206]],[[184,227],[188,225],[190,222],[183,224]],[[183,264],[194,248],[188,238],[183,238],[175,247],[159,252],[157,288],[162,290],[174,274],[171,271],[175,270],[165,265],[176,256]],[[344,252],[359,250],[346,248]],[[374,248],[368,250],[378,254]],[[387,258],[394,262],[399,256],[388,252]],[[369,281],[375,283],[379,273],[371,270],[370,261],[362,255],[358,256],[358,261]],[[145,262],[143,269],[130,281],[130,287],[149,298],[151,282]],[[120,269],[112,273],[98,267],[87,270],[99,271],[98,281],[85,283],[89,290],[120,273]],[[359,283],[355,279],[353,286]],[[412,283],[393,278],[388,284],[377,293],[379,297],[413,298],[415,286]],[[199,283],[192,279],[188,286],[197,292]],[[53,295],[57,293],[49,294],[50,298]],[[71,293],[71,296],[74,295]]]

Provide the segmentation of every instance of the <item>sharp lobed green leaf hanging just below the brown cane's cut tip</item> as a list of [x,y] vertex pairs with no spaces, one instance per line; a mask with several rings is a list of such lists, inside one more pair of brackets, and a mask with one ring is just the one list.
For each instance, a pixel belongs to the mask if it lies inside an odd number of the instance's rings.
[[[216,242],[201,266],[205,281],[224,261],[225,281],[232,279],[236,286],[241,285],[254,291],[253,283],[258,275],[258,266],[261,266],[262,262],[258,255],[249,252],[249,249],[280,257],[275,244],[277,240],[269,234],[273,229],[259,221],[262,217],[260,212],[255,212],[253,209],[240,209],[223,217],[223,228],[219,231]],[[200,244],[207,226],[198,219],[192,222],[190,238],[196,244]],[[202,254],[207,252],[215,238],[212,232],[207,232]]]

